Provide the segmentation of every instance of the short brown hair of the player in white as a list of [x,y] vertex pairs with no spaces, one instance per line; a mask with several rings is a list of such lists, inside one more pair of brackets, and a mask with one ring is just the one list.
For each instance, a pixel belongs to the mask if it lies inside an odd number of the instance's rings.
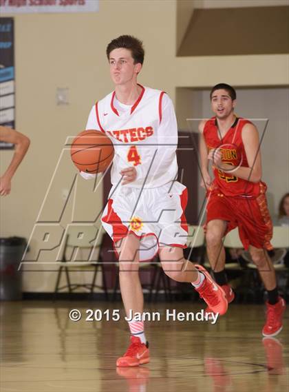
[[132,35],[120,35],[120,37],[113,39],[107,45],[107,59],[109,59],[110,52],[118,48],[130,50],[135,64],[142,64],[144,62],[144,48],[140,39],[137,39]]

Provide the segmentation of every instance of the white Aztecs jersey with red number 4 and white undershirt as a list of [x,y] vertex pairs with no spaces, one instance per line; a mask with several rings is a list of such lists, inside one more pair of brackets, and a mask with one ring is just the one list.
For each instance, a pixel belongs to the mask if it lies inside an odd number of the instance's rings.
[[115,92],[105,96],[92,107],[86,129],[104,132],[114,144],[112,185],[121,182],[122,169],[133,166],[138,176],[125,187],[160,187],[178,174],[178,126],[169,96],[140,87],[133,105],[120,103]]

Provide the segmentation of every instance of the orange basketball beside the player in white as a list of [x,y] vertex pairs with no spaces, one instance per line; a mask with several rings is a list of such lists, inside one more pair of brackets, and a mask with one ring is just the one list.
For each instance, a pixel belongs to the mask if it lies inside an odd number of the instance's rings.
[[81,172],[101,173],[114,158],[114,146],[103,132],[87,130],[74,138],[70,154]]

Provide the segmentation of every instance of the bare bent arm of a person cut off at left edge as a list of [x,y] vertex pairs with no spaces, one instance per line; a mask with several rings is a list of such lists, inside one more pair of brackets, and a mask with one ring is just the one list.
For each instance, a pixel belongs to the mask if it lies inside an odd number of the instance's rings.
[[10,194],[12,177],[28,150],[30,139],[20,132],[0,125],[0,141],[15,145],[12,161],[6,169],[6,172],[0,177],[0,195],[6,196]]

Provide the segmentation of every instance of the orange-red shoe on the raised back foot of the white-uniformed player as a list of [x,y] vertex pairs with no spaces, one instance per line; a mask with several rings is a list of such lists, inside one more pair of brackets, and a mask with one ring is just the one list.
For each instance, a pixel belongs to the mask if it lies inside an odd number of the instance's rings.
[[195,268],[202,272],[205,276],[202,286],[195,288],[195,290],[197,290],[200,297],[203,298],[208,307],[212,309],[214,313],[219,313],[220,315],[225,314],[228,309],[228,301],[226,300],[224,290],[222,287],[217,285],[202,265],[195,264]]

